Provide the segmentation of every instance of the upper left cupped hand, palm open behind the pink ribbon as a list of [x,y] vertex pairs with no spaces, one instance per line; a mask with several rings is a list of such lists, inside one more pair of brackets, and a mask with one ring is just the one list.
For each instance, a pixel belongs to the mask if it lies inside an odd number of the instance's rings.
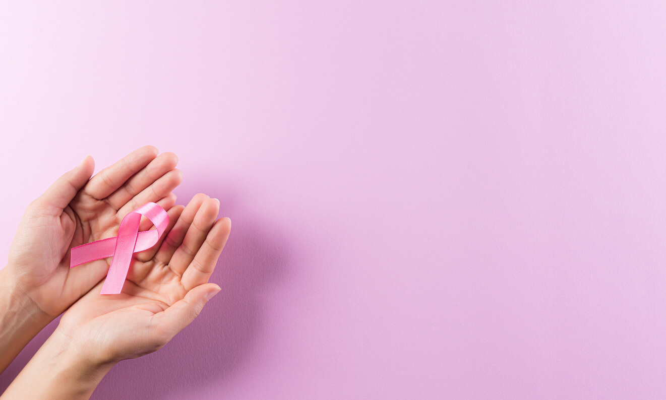
[[116,236],[123,217],[146,202],[165,209],[174,205],[171,191],[182,180],[178,159],[157,154],[157,148],[145,146],[92,178],[95,163],[87,156],[28,206],[5,270],[43,313],[63,313],[109,270],[108,260],[70,269],[71,248]]

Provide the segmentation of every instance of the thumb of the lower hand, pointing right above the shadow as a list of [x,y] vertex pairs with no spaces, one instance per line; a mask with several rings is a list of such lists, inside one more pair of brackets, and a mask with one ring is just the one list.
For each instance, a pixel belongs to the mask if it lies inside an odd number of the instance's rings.
[[176,333],[182,331],[196,318],[208,300],[220,292],[220,287],[216,284],[204,284],[187,292],[182,300],[178,300],[173,305],[161,313],[156,313],[153,317],[155,329],[151,329],[155,341],[161,344],[168,342]]

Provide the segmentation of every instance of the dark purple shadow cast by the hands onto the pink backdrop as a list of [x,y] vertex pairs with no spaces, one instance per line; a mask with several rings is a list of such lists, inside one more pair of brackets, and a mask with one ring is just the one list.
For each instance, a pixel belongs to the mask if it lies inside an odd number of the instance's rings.
[[[179,204],[198,192],[218,198],[220,217],[232,219],[231,235],[210,279],[222,291],[164,349],[116,365],[92,399],[164,399],[212,381],[223,384],[242,368],[261,329],[262,293],[284,275],[288,252],[278,232],[252,220],[228,187],[220,181],[188,179],[176,190]],[[39,333],[0,375],[0,393],[56,326],[54,321]]]

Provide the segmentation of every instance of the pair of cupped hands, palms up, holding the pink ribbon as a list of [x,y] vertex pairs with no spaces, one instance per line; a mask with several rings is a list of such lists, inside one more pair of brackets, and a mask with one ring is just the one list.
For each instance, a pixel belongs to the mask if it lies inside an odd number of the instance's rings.
[[[66,338],[91,365],[163,347],[220,291],[208,278],[230,220],[216,220],[220,203],[204,194],[186,207],[175,205],[171,191],[182,180],[177,158],[157,154],[145,146],[92,178],[95,166],[88,156],[61,176],[27,208],[2,271],[25,296],[23,304],[33,307],[35,320],[48,323],[65,312],[54,335]],[[70,250],[116,236],[123,218],[146,202],[167,211],[168,228],[153,248],[134,254],[123,292],[102,296],[110,260],[70,269]],[[150,227],[143,218],[140,230]]]

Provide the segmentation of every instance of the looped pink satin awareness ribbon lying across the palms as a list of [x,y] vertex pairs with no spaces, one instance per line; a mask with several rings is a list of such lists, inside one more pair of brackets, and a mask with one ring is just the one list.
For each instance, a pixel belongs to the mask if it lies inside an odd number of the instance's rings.
[[[157,229],[139,232],[142,215],[151,220]],[[127,278],[132,254],[155,246],[165,233],[166,226],[168,226],[168,214],[165,209],[152,202],[146,203],[123,218],[118,228],[118,236],[72,248],[69,268],[113,256],[107,280],[100,294],[119,294]]]

